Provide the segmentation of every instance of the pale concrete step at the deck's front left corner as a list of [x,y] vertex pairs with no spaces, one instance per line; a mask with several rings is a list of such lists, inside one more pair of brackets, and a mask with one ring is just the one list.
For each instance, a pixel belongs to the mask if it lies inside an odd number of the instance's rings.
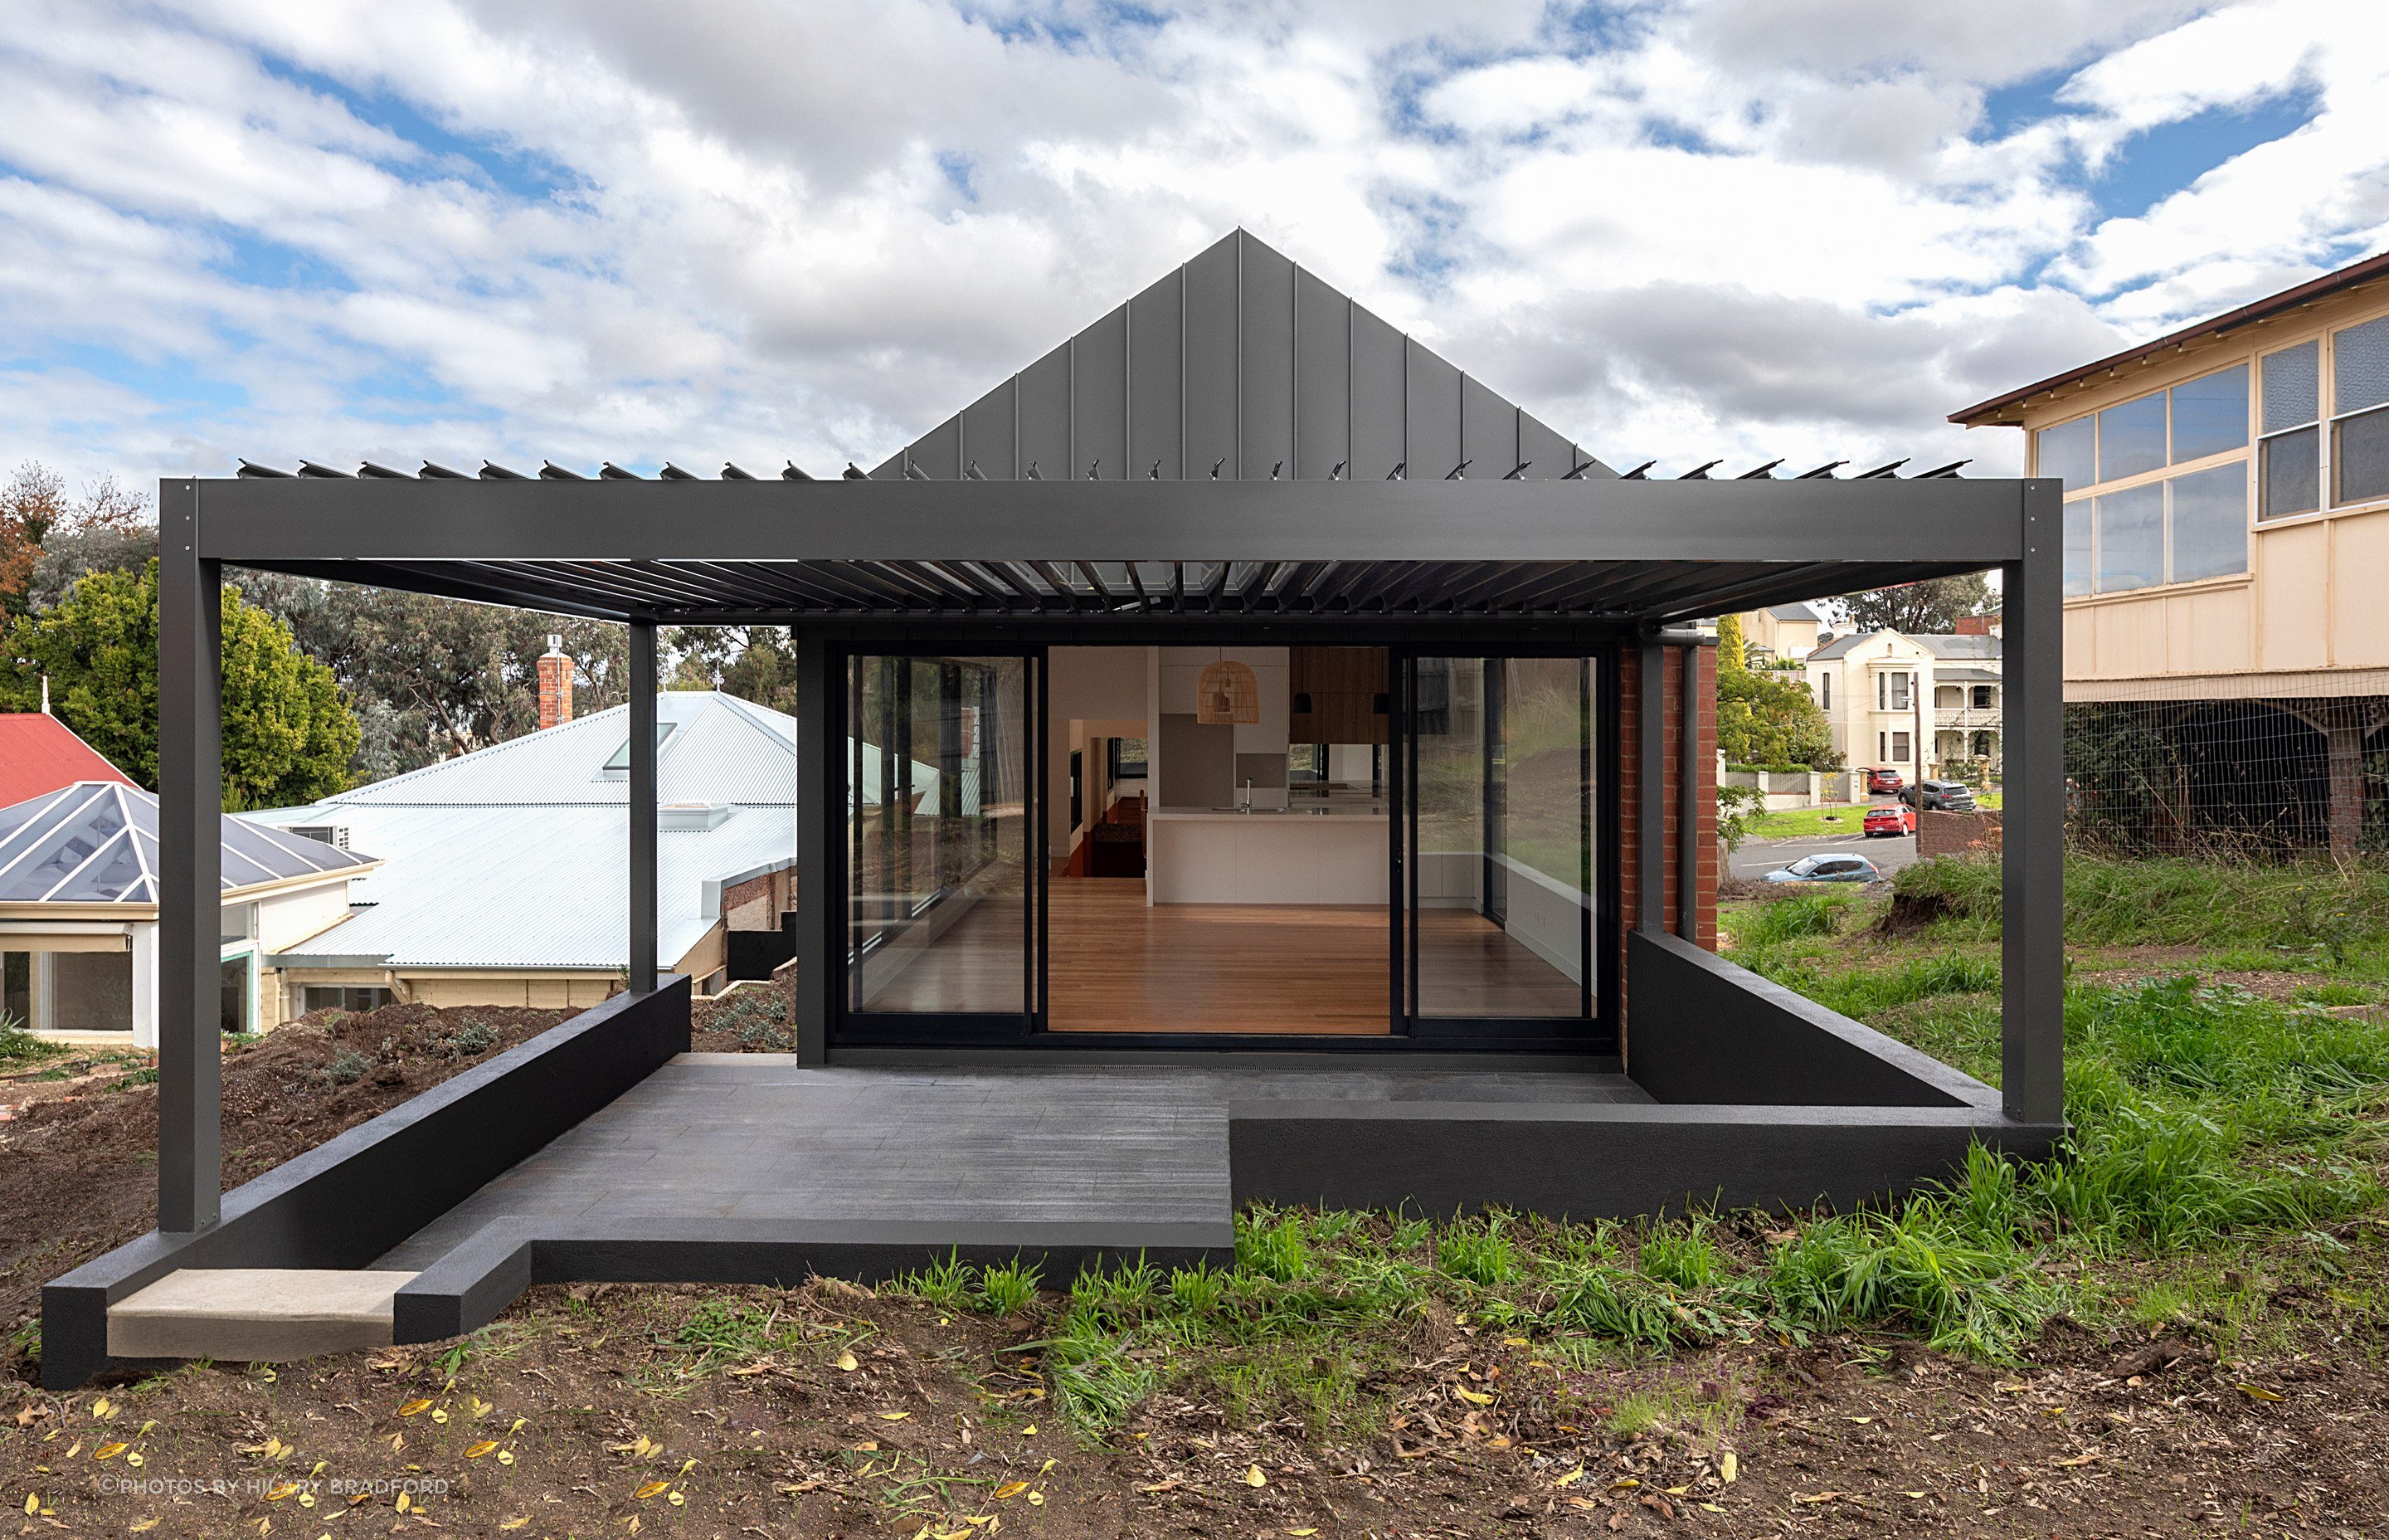
[[413,1272],[184,1267],[108,1306],[112,1358],[287,1363],[389,1346],[389,1296]]

